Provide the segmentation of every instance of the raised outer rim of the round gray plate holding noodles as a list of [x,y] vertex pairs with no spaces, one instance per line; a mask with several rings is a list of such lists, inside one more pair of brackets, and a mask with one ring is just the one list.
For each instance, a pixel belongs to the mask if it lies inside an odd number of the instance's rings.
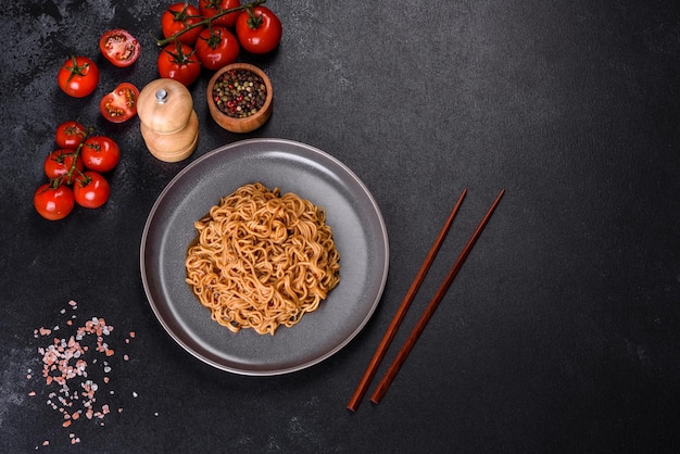
[[[201,354],[200,352],[197,352],[194,349],[192,349],[190,345],[188,345],[182,339],[179,338],[178,333],[175,332],[175,330],[169,326],[168,321],[162,316],[160,307],[158,305],[158,302],[154,301],[154,298],[152,295],[152,289],[150,288],[149,281],[148,281],[148,275],[146,273],[147,269],[147,261],[146,261],[146,250],[147,250],[147,240],[148,240],[148,236],[149,236],[149,231],[153,225],[154,219],[154,215],[156,214],[160,205],[163,203],[164,199],[167,197],[167,194],[172,191],[172,189],[184,178],[185,175],[187,175],[188,173],[190,173],[194,167],[199,166],[203,161],[206,161],[209,159],[211,159],[212,156],[219,154],[219,153],[224,153],[227,150],[234,149],[234,148],[240,148],[240,147],[248,147],[248,146],[252,146],[253,143],[261,146],[261,144],[272,144],[272,143],[277,143],[277,144],[284,144],[284,146],[289,146],[289,147],[294,147],[294,148],[302,148],[305,149],[310,152],[312,152],[313,154],[319,155],[325,160],[331,161],[335,165],[337,165],[338,167],[341,168],[342,172],[344,172],[347,174],[347,177],[350,177],[356,185],[358,185],[358,187],[361,188],[363,194],[367,198],[367,200],[369,201],[370,207],[372,207],[372,212],[375,212],[377,222],[378,222],[378,226],[379,226],[379,230],[381,234],[381,238],[383,239],[383,257],[382,260],[385,261],[385,266],[382,269],[382,275],[380,278],[380,283],[379,287],[377,288],[377,293],[376,293],[376,298],[375,301],[373,301],[370,303],[370,308],[368,310],[368,312],[366,313],[365,317],[361,320],[361,323],[354,328],[354,330],[345,338],[343,339],[340,343],[338,343],[333,349],[325,352],[324,354],[306,361],[306,362],[302,362],[300,364],[290,366],[290,367],[280,367],[280,368],[273,368],[273,369],[267,369],[267,370],[262,370],[262,369],[248,369],[248,368],[239,368],[239,367],[234,367],[234,366],[229,366],[229,365],[225,365],[223,363],[213,361],[209,357],[206,357],[205,355]],[[290,154],[291,156],[295,156],[295,154],[289,152],[289,151],[282,151],[282,150],[272,150],[272,151],[276,151],[277,153],[285,153],[285,154]],[[266,150],[263,150],[262,152],[266,152]],[[317,162],[318,163],[318,162]],[[327,166],[324,165],[324,167],[327,168]],[[333,174],[337,175],[337,173],[333,172]],[[149,305],[151,306],[155,318],[159,320],[159,323],[161,324],[161,326],[163,327],[163,329],[165,330],[165,332],[179,345],[181,346],[186,352],[188,352],[189,354],[191,354],[192,356],[194,356],[196,358],[200,360],[201,362],[213,366],[217,369],[224,370],[224,371],[228,371],[228,373],[232,373],[232,374],[238,374],[238,375],[245,375],[245,376],[275,376],[275,375],[284,375],[284,374],[290,374],[290,373],[294,373],[298,370],[302,370],[308,367],[312,367],[318,363],[322,363],[323,361],[329,358],[330,356],[335,355],[336,353],[338,353],[339,351],[341,351],[344,346],[347,346],[366,326],[366,324],[368,323],[368,320],[373,317],[378,304],[380,303],[381,299],[382,299],[382,294],[385,292],[385,287],[387,283],[387,278],[388,278],[388,274],[389,274],[389,267],[390,267],[390,247],[389,247],[389,237],[388,237],[388,231],[387,231],[387,227],[385,224],[385,219],[382,216],[382,213],[380,211],[380,207],[377,203],[377,201],[375,200],[373,193],[368,190],[368,188],[366,187],[366,185],[361,180],[361,178],[358,178],[358,176],[350,168],[348,167],[344,163],[342,163],[340,160],[338,160],[337,157],[330,155],[329,153],[310,146],[307,143],[303,143],[300,141],[295,141],[295,140],[290,140],[290,139],[279,139],[279,138],[251,138],[251,139],[242,139],[242,140],[237,140],[221,147],[217,147],[206,153],[204,153],[203,155],[197,157],[194,161],[190,162],[189,164],[187,164],[184,168],[181,168],[163,188],[163,190],[159,193],[159,196],[156,197],[151,210],[149,211],[149,215],[147,216],[147,220],[144,223],[144,227],[142,230],[142,236],[141,236],[141,241],[140,241],[140,254],[139,254],[139,264],[140,264],[140,274],[141,274],[141,278],[142,278],[142,286],[144,289],[144,294],[147,298],[147,302],[149,303]],[[166,302],[167,304],[167,302]]]

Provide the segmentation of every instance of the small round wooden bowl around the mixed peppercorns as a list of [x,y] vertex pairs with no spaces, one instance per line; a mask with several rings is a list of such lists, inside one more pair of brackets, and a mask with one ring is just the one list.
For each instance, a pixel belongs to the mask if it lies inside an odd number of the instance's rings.
[[[217,79],[227,71],[234,70],[244,70],[255,74],[256,76],[260,76],[262,80],[264,80],[264,85],[267,90],[264,105],[256,113],[242,118],[232,117],[222,112],[219,108],[217,108],[217,104],[213,99],[213,88],[215,87],[215,83],[217,81]],[[232,63],[223,67],[222,70],[213,74],[213,77],[211,77],[210,83],[207,84],[206,94],[207,109],[210,110],[210,114],[219,126],[228,131],[250,133],[251,130],[255,130],[260,126],[264,125],[267,119],[269,119],[269,116],[272,116],[272,99],[274,96],[272,81],[269,80],[269,77],[267,77],[267,75],[264,73],[264,71],[260,70],[257,66],[248,63]]]

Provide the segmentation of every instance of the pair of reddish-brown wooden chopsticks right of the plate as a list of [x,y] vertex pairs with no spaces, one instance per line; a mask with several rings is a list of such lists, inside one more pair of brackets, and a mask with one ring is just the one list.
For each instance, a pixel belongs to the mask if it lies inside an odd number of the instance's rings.
[[[453,283],[453,279],[456,277],[456,275],[461,270],[463,263],[469,255],[470,251],[473,250],[473,247],[475,245],[475,242],[477,241],[477,239],[481,235],[481,231],[483,230],[487,223],[491,218],[491,215],[495,211],[495,207],[501,201],[501,198],[503,197],[504,192],[505,190],[502,190],[499,193],[499,196],[495,198],[493,203],[491,204],[491,207],[489,209],[489,211],[487,212],[484,217],[481,219],[481,222],[475,229],[474,234],[471,235],[471,237],[469,238],[469,240],[463,248],[463,251],[461,252],[455,263],[449,270],[449,274],[444,278],[444,281],[441,283],[441,286],[437,290],[437,293],[435,294],[432,300],[430,300],[425,312],[420,316],[420,319],[418,320],[416,326],[413,328],[413,330],[411,331],[411,335],[404,342],[404,345],[401,348],[401,350],[396,354],[396,357],[394,358],[394,361],[392,362],[392,364],[386,371],[385,376],[382,377],[382,380],[380,380],[380,383],[378,383],[378,387],[376,388],[376,390],[370,396],[370,402],[373,402],[374,404],[380,403],[380,400],[382,399],[388,388],[392,383],[392,380],[394,380],[394,377],[396,377],[399,369],[406,361],[406,357],[408,356],[408,354],[411,353],[411,350],[413,349],[416,341],[418,340],[418,338],[425,330],[425,327],[427,326],[428,321],[430,320],[430,318],[432,318],[432,315],[435,314],[437,306],[439,305],[441,300],[443,300],[444,295],[446,294],[446,291],[449,290],[449,287],[451,287],[451,283]],[[432,265],[432,262],[435,261],[435,256],[437,255],[437,253],[439,252],[439,249],[444,242],[444,238],[446,237],[446,234],[451,225],[453,224],[453,219],[458,213],[458,210],[461,209],[461,205],[463,204],[463,199],[465,199],[466,194],[467,194],[467,189],[464,189],[463,193],[461,193],[461,197],[458,198],[458,201],[456,202],[455,206],[451,211],[449,218],[446,218],[444,226],[439,232],[439,236],[435,240],[435,243],[432,244],[432,247],[430,248],[430,251],[425,257],[423,265],[420,265],[420,269],[418,270],[416,278],[414,279],[413,283],[411,285],[411,288],[406,292],[406,295],[404,297],[404,300],[399,306],[396,314],[394,314],[394,318],[392,319],[392,323],[388,327],[382,340],[380,341],[380,344],[378,345],[378,349],[376,350],[376,353],[374,354],[373,358],[370,360],[370,363],[368,364],[368,367],[366,368],[366,371],[364,373],[364,376],[358,382],[358,386],[356,387],[356,390],[354,391],[352,399],[348,403],[348,409],[352,412],[356,412],[356,408],[358,408],[358,405],[362,399],[364,399],[364,395],[366,394],[366,391],[368,390],[368,386],[370,384],[370,381],[374,379],[376,373],[378,371],[378,366],[382,362],[382,358],[385,357],[385,354],[387,353],[388,348],[390,346],[390,344],[392,343],[392,340],[394,339],[396,330],[402,324],[404,316],[406,315],[406,312],[408,311],[408,307],[411,306],[411,303],[413,302],[413,299],[418,292],[420,285],[425,280],[425,276],[430,269],[430,266]]]

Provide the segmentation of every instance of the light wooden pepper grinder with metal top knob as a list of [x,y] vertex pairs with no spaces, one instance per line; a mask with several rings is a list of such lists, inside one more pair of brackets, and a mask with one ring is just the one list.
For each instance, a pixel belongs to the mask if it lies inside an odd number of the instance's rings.
[[177,80],[162,78],[147,85],[137,100],[137,115],[147,148],[159,160],[182,161],[196,150],[199,117],[191,93]]

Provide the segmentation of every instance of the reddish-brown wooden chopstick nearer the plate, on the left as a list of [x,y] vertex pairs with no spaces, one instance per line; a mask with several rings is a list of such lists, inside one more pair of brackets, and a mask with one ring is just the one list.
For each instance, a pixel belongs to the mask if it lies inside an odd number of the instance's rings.
[[356,412],[356,408],[358,408],[358,405],[361,404],[362,399],[364,399],[364,395],[366,394],[366,391],[368,390],[368,386],[370,384],[370,381],[376,376],[378,366],[382,362],[382,358],[385,357],[385,354],[388,348],[390,346],[390,344],[392,343],[392,340],[394,339],[394,335],[396,333],[396,330],[399,329],[401,323],[404,319],[404,316],[406,315],[406,312],[408,311],[408,307],[411,306],[411,303],[413,302],[413,299],[418,292],[420,285],[425,280],[425,276],[430,269],[430,266],[432,265],[432,262],[435,261],[435,256],[437,255],[437,252],[439,252],[441,244],[444,242],[446,232],[449,231],[451,225],[453,224],[453,219],[455,218],[456,213],[458,213],[458,210],[461,209],[461,205],[463,204],[463,199],[465,199],[466,193],[467,193],[467,189],[464,189],[463,193],[461,193],[461,197],[458,198],[457,203],[451,211],[449,218],[444,223],[444,226],[439,232],[439,236],[435,240],[435,243],[432,243],[432,247],[430,248],[430,251],[425,257],[423,265],[420,265],[420,269],[418,270],[418,274],[416,275],[413,283],[411,285],[411,288],[406,292],[406,295],[404,297],[404,300],[399,306],[396,314],[394,314],[394,318],[392,318],[392,323],[390,324],[387,331],[385,332],[385,336],[382,337],[380,344],[376,349],[376,353],[370,360],[370,363],[368,363],[368,367],[366,368],[364,376],[358,382],[358,386],[356,387],[356,390],[354,391],[352,399],[348,403],[348,409],[352,412]]

